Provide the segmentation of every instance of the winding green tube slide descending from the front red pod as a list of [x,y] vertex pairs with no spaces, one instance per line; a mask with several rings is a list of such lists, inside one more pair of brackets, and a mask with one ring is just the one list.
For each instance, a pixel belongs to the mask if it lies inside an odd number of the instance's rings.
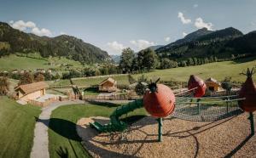
[[128,127],[128,125],[124,121],[120,121],[119,117],[142,107],[143,99],[137,99],[131,103],[119,106],[114,110],[110,116],[110,123],[102,125],[95,121],[94,123],[90,123],[90,127],[96,128],[100,133],[122,132]]

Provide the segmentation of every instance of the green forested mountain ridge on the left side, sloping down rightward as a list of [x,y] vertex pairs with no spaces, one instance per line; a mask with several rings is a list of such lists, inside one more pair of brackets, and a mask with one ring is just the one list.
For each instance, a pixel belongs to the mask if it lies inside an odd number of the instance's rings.
[[15,30],[3,22],[0,22],[0,51],[0,56],[15,52],[39,52],[43,57],[64,56],[82,64],[112,61],[106,51],[79,38],[67,35],[38,37],[32,33]]

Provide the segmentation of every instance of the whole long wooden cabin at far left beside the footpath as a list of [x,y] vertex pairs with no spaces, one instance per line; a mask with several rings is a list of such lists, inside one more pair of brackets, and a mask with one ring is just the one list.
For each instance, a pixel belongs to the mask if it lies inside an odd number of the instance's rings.
[[15,99],[28,101],[37,99],[45,94],[45,88],[49,87],[46,82],[33,82],[15,87]]

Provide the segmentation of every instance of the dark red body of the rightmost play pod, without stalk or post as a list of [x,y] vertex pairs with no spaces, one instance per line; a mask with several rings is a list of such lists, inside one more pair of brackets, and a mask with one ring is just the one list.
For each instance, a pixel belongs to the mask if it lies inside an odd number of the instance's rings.
[[256,110],[256,86],[253,83],[252,77],[248,77],[244,82],[239,92],[239,98],[245,98],[239,101],[239,106],[242,110],[253,112]]

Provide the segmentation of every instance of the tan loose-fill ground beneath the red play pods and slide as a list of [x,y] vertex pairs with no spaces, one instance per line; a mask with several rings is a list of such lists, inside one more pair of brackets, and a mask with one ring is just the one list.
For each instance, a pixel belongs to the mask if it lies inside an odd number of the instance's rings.
[[[157,142],[157,121],[151,116],[134,123],[127,133],[96,133],[89,122],[108,118],[82,118],[77,132],[94,157],[256,157],[256,136],[250,136],[248,113],[219,121],[163,121],[163,141]],[[254,112],[254,122],[256,112]]]

